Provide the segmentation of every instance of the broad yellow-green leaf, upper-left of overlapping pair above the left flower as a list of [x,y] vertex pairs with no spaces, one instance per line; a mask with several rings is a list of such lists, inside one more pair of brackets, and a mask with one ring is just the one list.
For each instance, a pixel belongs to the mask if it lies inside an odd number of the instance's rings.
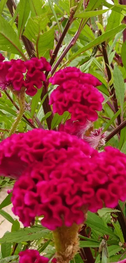
[[48,22],[49,19],[45,15],[29,18],[23,35],[36,44],[41,31],[46,28]]

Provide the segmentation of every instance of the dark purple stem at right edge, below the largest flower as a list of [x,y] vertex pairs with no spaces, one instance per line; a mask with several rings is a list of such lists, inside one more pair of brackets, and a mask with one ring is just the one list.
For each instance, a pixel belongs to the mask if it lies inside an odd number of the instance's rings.
[[118,216],[118,223],[120,224],[122,233],[123,233],[123,238],[124,238],[124,242],[126,242],[126,218],[123,214],[123,211],[118,203],[118,205],[116,206],[116,209],[118,209],[120,212],[116,212],[116,215]]

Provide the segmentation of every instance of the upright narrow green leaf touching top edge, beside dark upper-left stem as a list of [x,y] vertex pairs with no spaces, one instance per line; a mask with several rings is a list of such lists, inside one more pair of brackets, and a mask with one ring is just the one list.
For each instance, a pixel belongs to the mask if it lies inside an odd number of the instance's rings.
[[28,0],[20,0],[19,2],[19,13],[18,13],[18,37],[21,39],[23,29],[27,22],[30,8],[28,4]]

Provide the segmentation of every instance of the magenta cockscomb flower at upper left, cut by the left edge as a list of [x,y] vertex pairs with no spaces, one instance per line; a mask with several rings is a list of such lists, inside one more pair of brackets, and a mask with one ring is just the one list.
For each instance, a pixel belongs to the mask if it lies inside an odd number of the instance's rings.
[[42,87],[42,82],[46,80],[43,71],[51,70],[50,64],[44,57],[31,58],[27,61],[3,60],[4,57],[0,54],[0,87],[5,89],[12,85],[13,89],[18,91],[26,87],[26,94],[30,96],[34,96],[37,89]]

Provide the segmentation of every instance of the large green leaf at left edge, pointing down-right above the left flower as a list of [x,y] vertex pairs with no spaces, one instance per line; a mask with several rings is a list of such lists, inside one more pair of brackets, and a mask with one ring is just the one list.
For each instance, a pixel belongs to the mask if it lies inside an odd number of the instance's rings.
[[0,49],[13,54],[22,56],[23,49],[21,43],[18,39],[16,32],[13,30],[12,26],[0,15]]

